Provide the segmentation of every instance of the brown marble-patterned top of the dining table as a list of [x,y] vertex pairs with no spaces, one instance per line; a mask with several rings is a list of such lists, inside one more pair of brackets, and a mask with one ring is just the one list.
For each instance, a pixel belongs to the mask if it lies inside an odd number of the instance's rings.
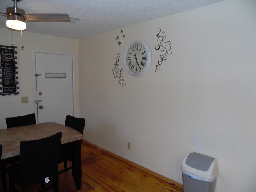
[[3,145],[2,159],[20,155],[20,141],[45,138],[60,131],[62,132],[61,144],[83,138],[78,131],[54,122],[0,129],[0,144]]

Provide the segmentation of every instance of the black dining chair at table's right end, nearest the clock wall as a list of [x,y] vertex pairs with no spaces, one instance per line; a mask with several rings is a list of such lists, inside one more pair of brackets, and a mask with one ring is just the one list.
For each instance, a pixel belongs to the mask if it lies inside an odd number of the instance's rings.
[[[83,134],[83,129],[85,126],[85,119],[84,118],[77,118],[71,115],[67,115],[66,116],[66,120],[65,120],[65,126],[71,127],[72,129],[75,129],[76,131],[80,132],[81,134]],[[60,151],[60,161],[59,163],[63,162],[64,163],[64,169],[59,171],[59,174],[66,172],[68,170],[70,170],[72,167],[68,167],[67,166],[67,159],[69,161],[72,161],[72,150],[71,148],[65,148],[63,146],[63,149],[61,149]]]

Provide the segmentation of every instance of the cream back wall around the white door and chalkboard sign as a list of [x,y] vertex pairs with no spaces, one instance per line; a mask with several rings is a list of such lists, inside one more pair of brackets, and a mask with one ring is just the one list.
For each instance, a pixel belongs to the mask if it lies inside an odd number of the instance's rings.
[[[6,117],[35,113],[32,49],[75,53],[75,61],[78,64],[77,39],[54,37],[25,31],[23,32],[23,45],[25,48],[21,50],[20,32],[13,31],[13,42],[14,46],[17,46],[19,94],[0,96],[0,129],[6,128]],[[0,45],[11,46],[11,30],[0,28]],[[76,65],[76,72],[76,100],[78,101],[78,65]],[[23,96],[28,96],[28,103],[21,103],[21,97]],[[78,102],[76,109],[79,111]],[[76,114],[78,115],[78,113]]]

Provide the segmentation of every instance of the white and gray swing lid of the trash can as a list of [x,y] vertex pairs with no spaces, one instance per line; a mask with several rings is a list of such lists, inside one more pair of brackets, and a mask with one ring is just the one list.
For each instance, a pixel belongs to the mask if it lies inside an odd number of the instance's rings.
[[181,169],[203,179],[213,180],[219,174],[217,159],[191,152],[182,161]]

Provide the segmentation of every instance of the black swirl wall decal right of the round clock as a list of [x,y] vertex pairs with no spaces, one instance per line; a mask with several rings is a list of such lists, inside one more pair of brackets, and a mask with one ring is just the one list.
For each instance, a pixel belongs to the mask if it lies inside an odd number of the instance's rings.
[[169,54],[171,55],[171,41],[165,42],[166,39],[165,32],[161,32],[161,29],[158,29],[158,34],[156,35],[157,39],[156,41],[158,44],[155,46],[155,50],[160,50],[162,54],[160,55],[160,60],[158,61],[158,64],[156,65],[155,71],[159,70],[160,66],[162,66],[163,61],[165,61],[167,58],[166,56]]

